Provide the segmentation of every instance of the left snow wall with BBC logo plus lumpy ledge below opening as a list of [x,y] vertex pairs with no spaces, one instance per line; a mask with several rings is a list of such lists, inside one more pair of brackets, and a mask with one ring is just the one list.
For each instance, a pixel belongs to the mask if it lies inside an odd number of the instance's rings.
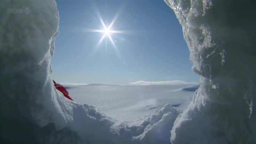
[[180,114],[170,104],[139,124],[117,123],[54,88],[50,62],[59,30],[54,0],[2,0],[0,11],[0,143],[170,142]]

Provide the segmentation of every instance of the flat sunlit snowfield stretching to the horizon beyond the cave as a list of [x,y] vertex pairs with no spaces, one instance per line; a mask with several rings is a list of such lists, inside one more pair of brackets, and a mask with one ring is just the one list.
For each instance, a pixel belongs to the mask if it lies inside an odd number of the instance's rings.
[[142,118],[164,104],[185,110],[197,84],[118,86],[106,84],[63,84],[77,102],[95,106],[110,117],[121,121]]

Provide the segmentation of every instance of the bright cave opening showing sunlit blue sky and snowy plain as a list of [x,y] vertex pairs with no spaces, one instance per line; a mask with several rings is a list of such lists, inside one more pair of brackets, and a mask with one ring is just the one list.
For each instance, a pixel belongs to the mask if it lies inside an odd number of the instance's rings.
[[[152,2],[145,7],[140,1],[84,2],[67,7],[69,4],[57,1],[60,34],[51,61],[52,78],[64,82],[75,101],[128,121],[166,103],[183,110],[188,106],[198,88],[198,76],[191,70],[182,27],[166,3]],[[73,28],[75,32],[70,29],[73,38],[67,40],[66,29],[73,23],[80,24]],[[104,28],[109,29],[108,34]],[[70,51],[74,43],[76,47]]]

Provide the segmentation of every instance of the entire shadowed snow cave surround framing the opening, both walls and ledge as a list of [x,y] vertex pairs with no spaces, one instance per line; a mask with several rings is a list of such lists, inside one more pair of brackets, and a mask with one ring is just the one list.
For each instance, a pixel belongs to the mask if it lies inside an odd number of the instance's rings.
[[182,114],[167,104],[127,124],[55,90],[54,0],[1,0],[1,143],[255,143],[255,4],[165,2],[182,25],[200,88]]

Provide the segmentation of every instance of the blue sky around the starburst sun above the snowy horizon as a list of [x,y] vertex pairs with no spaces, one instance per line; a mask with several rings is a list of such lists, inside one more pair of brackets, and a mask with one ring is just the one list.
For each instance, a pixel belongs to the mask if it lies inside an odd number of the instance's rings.
[[[57,0],[60,33],[52,57],[56,82],[126,85],[136,81],[197,82],[174,12],[163,0]],[[104,32],[116,14],[110,33]]]

